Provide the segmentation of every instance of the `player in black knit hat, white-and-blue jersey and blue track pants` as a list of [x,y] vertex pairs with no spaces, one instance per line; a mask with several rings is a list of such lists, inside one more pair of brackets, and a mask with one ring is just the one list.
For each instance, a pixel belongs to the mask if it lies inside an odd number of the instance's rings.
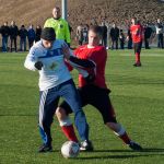
[[[46,27],[42,32],[42,39],[37,42],[30,50],[24,67],[28,70],[38,71],[39,73],[39,120],[38,127],[43,144],[38,152],[49,152],[51,147],[50,126],[52,117],[58,106],[59,97],[71,106],[74,112],[74,122],[82,140],[89,140],[89,126],[85,115],[81,108],[81,101],[72,81],[70,72],[65,63],[65,58],[70,60],[70,63],[75,62],[81,67],[94,67],[92,61],[75,59],[68,57],[66,50],[67,44],[63,40],[56,39],[56,34],[52,27]],[[70,50],[70,49],[69,49]],[[71,61],[72,60],[72,61]],[[89,73],[81,70],[81,73],[87,79]],[[69,120],[60,121],[60,125],[71,125]],[[68,126],[68,131],[73,127]],[[78,139],[72,139],[78,142]]]

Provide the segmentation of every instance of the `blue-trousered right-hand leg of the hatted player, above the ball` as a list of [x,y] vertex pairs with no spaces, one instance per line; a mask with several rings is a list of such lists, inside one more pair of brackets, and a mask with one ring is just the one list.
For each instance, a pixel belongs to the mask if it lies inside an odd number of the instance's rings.
[[81,108],[80,95],[72,80],[60,87],[60,96],[65,98],[74,113],[74,122],[81,140],[89,140],[89,125]]

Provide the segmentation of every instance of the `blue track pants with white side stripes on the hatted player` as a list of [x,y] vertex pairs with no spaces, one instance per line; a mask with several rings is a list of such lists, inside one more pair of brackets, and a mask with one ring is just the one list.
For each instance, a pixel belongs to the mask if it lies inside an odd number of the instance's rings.
[[74,124],[82,140],[89,140],[89,125],[81,108],[79,93],[72,80],[58,86],[40,92],[39,103],[39,132],[44,143],[51,144],[50,126],[59,97],[62,97],[73,109]]

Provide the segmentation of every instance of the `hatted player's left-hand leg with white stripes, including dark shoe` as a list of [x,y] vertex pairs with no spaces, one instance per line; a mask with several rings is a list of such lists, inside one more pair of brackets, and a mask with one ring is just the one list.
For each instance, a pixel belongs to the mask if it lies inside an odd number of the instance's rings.
[[43,144],[38,152],[49,152],[52,150],[50,126],[58,101],[59,97],[55,94],[52,89],[40,92],[38,127]]

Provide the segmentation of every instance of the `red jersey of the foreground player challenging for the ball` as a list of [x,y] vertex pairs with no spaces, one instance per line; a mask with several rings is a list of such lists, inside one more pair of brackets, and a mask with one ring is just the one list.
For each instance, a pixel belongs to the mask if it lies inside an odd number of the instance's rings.
[[[87,48],[87,45],[81,46],[74,51],[75,56],[80,59],[89,59],[95,62],[95,81],[94,84],[99,87],[107,87],[105,83],[105,66],[107,60],[107,52],[105,47],[96,46],[94,48]],[[90,72],[90,70],[89,70]],[[84,78],[79,74],[79,86],[86,84]]]

